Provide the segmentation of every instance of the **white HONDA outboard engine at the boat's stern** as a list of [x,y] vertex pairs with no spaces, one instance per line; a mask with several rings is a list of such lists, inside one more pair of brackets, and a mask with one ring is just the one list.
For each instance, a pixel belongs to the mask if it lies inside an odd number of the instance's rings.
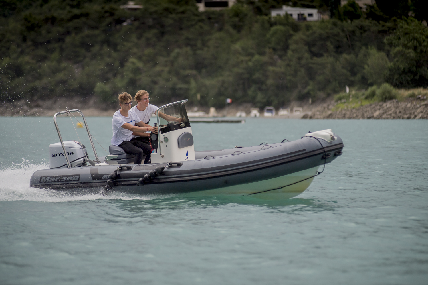
[[[78,141],[64,141],[65,151],[67,152],[68,161],[71,167],[82,166],[85,164],[84,159],[88,157],[86,147]],[[49,145],[49,168],[67,167],[65,154],[60,142]]]

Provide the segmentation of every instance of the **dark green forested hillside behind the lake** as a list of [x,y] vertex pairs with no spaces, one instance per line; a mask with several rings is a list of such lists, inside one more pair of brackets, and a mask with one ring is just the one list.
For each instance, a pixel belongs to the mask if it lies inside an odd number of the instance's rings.
[[281,107],[345,85],[428,87],[428,1],[378,0],[365,12],[354,1],[292,2],[331,17],[316,22],[270,17],[289,1],[206,12],[194,0],[136,0],[133,12],[126,2],[1,0],[1,100],[111,103],[145,89],[153,103]]

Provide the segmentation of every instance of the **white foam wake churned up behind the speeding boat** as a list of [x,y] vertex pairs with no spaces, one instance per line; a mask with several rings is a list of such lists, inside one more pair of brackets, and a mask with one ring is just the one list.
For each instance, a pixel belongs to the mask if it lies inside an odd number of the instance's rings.
[[[48,163],[32,164],[23,159],[22,163],[0,169],[0,201],[36,201],[36,202],[70,202],[80,200],[152,200],[172,197],[174,195],[131,195],[112,192],[103,196],[100,191],[91,193],[74,193],[30,187],[31,175],[41,169],[49,168]],[[72,190],[72,189],[71,189]]]

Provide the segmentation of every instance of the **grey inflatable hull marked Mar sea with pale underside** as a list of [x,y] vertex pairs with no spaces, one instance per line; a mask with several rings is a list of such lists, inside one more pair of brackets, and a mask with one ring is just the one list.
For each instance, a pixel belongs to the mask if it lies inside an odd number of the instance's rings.
[[[170,165],[144,184],[138,183],[140,178],[166,164],[128,165],[126,169],[119,169],[112,190],[143,195],[228,194],[287,199],[305,191],[318,167],[340,156],[342,148],[339,137],[330,142],[304,137],[284,143],[196,152],[196,160]],[[101,191],[109,174],[117,168],[118,165],[105,165],[38,170],[30,186],[74,192]]]

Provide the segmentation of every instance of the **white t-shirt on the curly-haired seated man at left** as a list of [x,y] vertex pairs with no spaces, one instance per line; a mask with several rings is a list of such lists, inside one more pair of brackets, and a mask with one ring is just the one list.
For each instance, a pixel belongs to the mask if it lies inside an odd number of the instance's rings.
[[111,121],[111,126],[113,128],[113,138],[111,138],[111,144],[118,146],[122,144],[122,141],[131,141],[132,131],[129,129],[122,128],[121,126],[124,123],[130,123],[135,126],[135,123],[140,122],[137,114],[134,111],[128,111],[128,117],[124,117],[120,114],[120,110],[116,111],[113,115],[113,120]]

